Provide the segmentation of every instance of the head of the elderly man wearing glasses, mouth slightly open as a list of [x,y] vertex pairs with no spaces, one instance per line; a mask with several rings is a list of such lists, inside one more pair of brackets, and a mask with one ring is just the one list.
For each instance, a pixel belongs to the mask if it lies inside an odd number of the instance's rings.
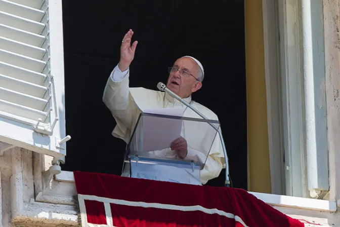
[[197,80],[199,66],[193,59],[179,58],[174,63],[173,68],[174,70],[169,74],[166,87],[181,98],[189,97],[191,93],[202,87],[202,83]]

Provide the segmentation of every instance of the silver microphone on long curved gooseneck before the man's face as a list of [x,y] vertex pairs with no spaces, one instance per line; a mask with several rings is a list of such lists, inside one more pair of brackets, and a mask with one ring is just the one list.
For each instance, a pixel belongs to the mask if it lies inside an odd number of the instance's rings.
[[[177,99],[178,101],[180,101],[181,103],[183,103],[184,105],[188,106],[190,109],[192,109],[194,112],[196,112],[201,118],[205,119],[205,120],[209,120],[207,117],[205,117],[200,111],[198,111],[196,108],[194,108],[192,105],[190,105],[190,103],[188,103],[187,101],[185,101],[184,99],[182,99],[180,96],[178,96],[177,94],[175,94],[173,91],[169,90],[165,84],[159,82],[157,84],[157,88],[160,91],[164,91],[167,94],[169,94],[170,96],[172,96],[173,98]],[[223,148],[223,154],[224,154],[224,158],[225,158],[225,162],[226,162],[226,181],[225,181],[225,186],[229,187],[230,186],[230,180],[229,180],[229,163],[228,163],[228,156],[227,156],[227,149],[226,149],[226,145],[224,143],[224,139],[222,136],[222,132],[221,132],[221,128],[217,128],[216,125],[207,122],[212,128],[214,128],[220,136],[220,140],[222,143],[222,148]]]

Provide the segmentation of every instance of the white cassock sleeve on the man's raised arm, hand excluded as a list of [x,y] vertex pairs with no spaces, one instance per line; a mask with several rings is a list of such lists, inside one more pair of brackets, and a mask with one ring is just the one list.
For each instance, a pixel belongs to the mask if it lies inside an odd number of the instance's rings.
[[140,114],[140,109],[129,91],[129,69],[121,72],[118,65],[113,69],[104,89],[103,102],[117,123],[112,132],[113,136],[128,143]]

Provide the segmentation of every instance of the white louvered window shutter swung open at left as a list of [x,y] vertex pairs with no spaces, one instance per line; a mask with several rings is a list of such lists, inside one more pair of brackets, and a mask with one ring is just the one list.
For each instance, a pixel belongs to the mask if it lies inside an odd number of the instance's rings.
[[58,159],[70,138],[61,2],[0,0],[0,141]]

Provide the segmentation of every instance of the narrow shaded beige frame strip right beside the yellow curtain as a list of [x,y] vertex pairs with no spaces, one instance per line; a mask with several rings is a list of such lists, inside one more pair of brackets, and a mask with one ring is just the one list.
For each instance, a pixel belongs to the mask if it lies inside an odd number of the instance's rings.
[[283,116],[279,77],[279,14],[277,5],[276,0],[262,1],[271,193],[284,195],[286,186],[284,180]]

